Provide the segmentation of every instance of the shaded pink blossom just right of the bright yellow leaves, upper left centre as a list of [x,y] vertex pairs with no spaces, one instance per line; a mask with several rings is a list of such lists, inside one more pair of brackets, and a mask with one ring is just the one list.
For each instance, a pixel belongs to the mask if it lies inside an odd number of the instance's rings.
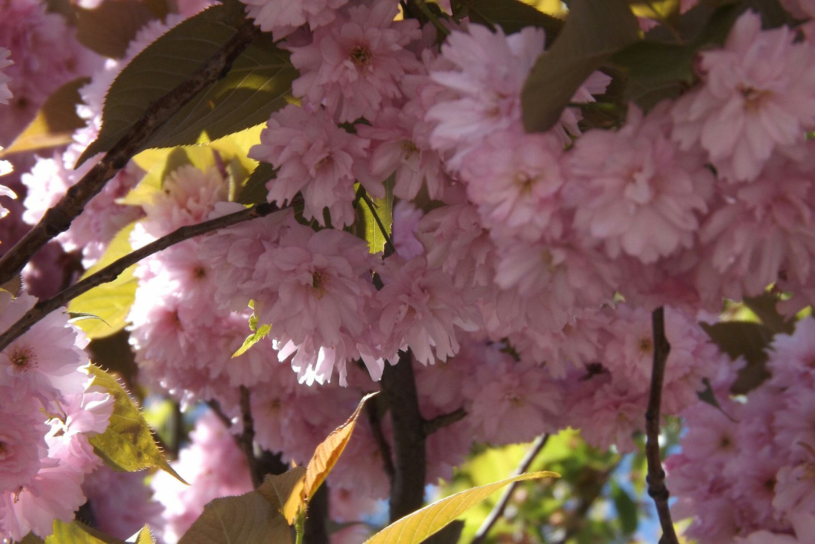
[[267,183],[269,202],[282,205],[302,191],[305,217],[320,225],[325,224],[324,208],[333,226],[354,222],[357,180],[372,196],[385,195],[382,180],[370,178],[365,167],[368,140],[339,128],[321,107],[311,112],[289,104],[271,115],[260,139],[249,156],[278,169]]

